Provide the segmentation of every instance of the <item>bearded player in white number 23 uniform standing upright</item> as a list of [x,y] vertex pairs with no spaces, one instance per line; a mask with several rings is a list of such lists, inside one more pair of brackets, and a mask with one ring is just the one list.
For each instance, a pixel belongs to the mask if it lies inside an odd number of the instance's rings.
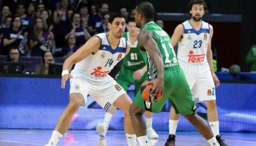
[[[178,25],[171,38],[172,46],[178,43],[177,58],[185,77],[194,102],[205,102],[207,117],[214,136],[220,145],[226,145],[219,135],[219,118],[216,108],[215,86],[220,81],[215,75],[212,63],[211,41],[213,27],[201,19],[207,6],[204,0],[191,0],[189,14],[191,19]],[[170,110],[169,138],[165,146],[175,145],[175,133],[179,122],[179,114],[175,109]]]

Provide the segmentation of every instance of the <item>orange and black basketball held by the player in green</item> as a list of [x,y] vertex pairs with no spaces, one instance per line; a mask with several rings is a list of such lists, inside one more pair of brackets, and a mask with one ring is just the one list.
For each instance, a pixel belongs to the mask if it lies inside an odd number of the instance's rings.
[[148,84],[148,82],[149,81],[144,81],[144,83],[142,83],[142,86],[140,87],[142,98],[146,102],[158,102],[158,100],[160,100],[163,95],[161,97],[150,95],[149,93],[151,93],[152,89],[154,88],[154,84]]

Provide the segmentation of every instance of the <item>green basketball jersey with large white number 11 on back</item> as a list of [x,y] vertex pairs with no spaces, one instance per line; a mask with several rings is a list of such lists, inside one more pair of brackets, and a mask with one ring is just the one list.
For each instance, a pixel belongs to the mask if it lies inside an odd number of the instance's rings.
[[[156,43],[158,44],[158,48],[163,56],[165,68],[179,66],[170,36],[165,32],[165,30],[161,29],[161,27],[154,22],[147,23],[143,29],[152,31],[154,36],[156,36]],[[149,76],[149,79],[154,79],[156,77],[156,67],[154,65],[154,60],[150,56],[148,57],[148,70],[149,75],[151,76]]]

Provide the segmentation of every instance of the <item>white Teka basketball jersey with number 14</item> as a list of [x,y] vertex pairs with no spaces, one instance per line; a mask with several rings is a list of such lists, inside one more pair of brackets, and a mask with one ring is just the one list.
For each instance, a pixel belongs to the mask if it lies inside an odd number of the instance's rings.
[[98,52],[76,63],[74,71],[87,74],[90,77],[105,77],[125,57],[127,41],[122,37],[118,47],[113,50],[107,39],[107,33],[97,34],[93,37],[98,37],[101,40]]

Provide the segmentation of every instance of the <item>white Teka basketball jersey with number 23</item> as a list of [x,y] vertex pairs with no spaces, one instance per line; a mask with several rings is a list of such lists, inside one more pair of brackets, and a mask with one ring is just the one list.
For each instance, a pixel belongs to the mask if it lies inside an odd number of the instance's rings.
[[201,64],[207,62],[206,51],[210,42],[209,23],[202,21],[201,29],[195,30],[189,20],[182,23],[184,35],[178,43],[177,58],[183,62]]

